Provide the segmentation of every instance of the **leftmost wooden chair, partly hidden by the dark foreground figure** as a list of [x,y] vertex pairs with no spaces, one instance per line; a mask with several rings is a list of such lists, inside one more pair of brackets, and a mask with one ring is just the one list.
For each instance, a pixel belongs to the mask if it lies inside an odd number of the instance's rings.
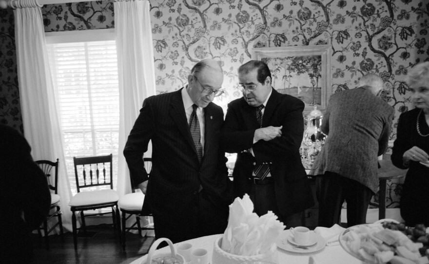
[[[37,160],[36,163],[39,165],[40,169],[43,171],[43,173],[46,175],[46,179],[48,181],[49,189],[51,190],[51,207],[49,209],[49,214],[43,220],[42,225],[39,227],[39,235],[41,236],[41,230],[43,229],[43,233],[45,236],[45,242],[46,242],[46,249],[49,249],[49,240],[48,235],[49,233],[54,230],[55,227],[59,226],[59,232],[61,236],[64,234],[64,231],[62,229],[62,219],[61,219],[61,208],[60,205],[60,199],[58,195],[58,159],[57,162],[52,162],[49,160]],[[53,225],[48,230],[48,221],[53,218],[57,217],[57,223]]]

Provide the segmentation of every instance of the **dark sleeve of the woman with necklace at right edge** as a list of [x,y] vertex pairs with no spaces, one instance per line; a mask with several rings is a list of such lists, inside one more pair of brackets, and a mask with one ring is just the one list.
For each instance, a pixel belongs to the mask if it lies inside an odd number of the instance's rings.
[[393,165],[395,165],[396,167],[400,169],[408,169],[408,167],[404,166],[404,160],[402,156],[404,155],[405,151],[409,150],[412,147],[412,144],[409,142],[408,139],[408,126],[403,113],[399,116],[396,132],[396,139],[393,143],[390,159],[392,160]]

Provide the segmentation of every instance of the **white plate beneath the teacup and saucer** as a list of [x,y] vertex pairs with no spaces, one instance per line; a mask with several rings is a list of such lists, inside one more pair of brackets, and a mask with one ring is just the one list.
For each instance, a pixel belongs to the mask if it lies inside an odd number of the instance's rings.
[[292,236],[291,230],[283,230],[275,241],[275,244],[277,245],[277,247],[283,250],[295,253],[311,253],[323,249],[326,245],[325,239],[320,235],[314,233],[314,231],[310,232],[314,234],[314,237],[316,238],[316,243],[313,245],[302,246],[291,244],[288,241],[288,238]]

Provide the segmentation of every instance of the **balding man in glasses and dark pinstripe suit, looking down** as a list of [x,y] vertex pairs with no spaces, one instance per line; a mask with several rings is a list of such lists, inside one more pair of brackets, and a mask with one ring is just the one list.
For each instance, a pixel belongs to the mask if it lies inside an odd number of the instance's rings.
[[[133,183],[146,194],[143,207],[153,213],[157,238],[177,243],[225,231],[232,184],[219,148],[223,111],[212,102],[222,82],[218,62],[201,60],[185,88],[145,99],[128,136],[124,156]],[[148,179],[142,155],[149,140]]]

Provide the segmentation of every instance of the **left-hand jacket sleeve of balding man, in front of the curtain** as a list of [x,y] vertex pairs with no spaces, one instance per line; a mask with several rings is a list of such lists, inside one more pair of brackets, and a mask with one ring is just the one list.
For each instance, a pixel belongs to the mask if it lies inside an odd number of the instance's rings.
[[152,105],[147,98],[143,102],[143,107],[140,109],[140,114],[128,136],[123,151],[134,186],[149,179],[144,168],[143,154],[147,151],[149,141],[155,131],[154,122]]

